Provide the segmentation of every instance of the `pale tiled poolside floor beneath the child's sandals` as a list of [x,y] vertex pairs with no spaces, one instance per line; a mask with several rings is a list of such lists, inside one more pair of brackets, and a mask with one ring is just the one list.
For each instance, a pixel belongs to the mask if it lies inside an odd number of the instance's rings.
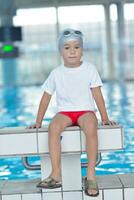
[[[100,194],[94,200],[134,200],[134,174],[97,177]],[[0,200],[92,200],[82,190],[53,191],[36,188],[39,180],[0,181]]]

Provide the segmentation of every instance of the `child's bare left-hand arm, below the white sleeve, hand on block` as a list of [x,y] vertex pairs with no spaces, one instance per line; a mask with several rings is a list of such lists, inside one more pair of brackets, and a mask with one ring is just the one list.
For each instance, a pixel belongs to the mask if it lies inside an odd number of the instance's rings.
[[40,104],[39,104],[36,123],[29,126],[29,128],[40,128],[41,127],[42,120],[43,120],[43,117],[44,117],[46,110],[48,108],[51,97],[52,97],[52,95],[48,94],[47,92],[44,92],[44,94],[41,98]]

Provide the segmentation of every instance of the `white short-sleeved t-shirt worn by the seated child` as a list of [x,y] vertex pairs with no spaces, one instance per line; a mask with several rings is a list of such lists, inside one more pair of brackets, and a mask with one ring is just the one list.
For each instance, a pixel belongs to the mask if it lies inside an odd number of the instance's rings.
[[91,88],[98,86],[102,86],[102,81],[96,67],[83,62],[76,68],[58,66],[50,73],[42,88],[50,95],[56,92],[58,112],[95,111]]

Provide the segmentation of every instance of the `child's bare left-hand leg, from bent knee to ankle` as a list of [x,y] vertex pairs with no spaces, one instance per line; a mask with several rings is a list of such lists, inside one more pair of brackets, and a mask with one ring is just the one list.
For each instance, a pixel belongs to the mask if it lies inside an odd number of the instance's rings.
[[52,164],[51,177],[55,180],[61,178],[60,159],[61,159],[61,145],[60,145],[60,134],[64,131],[67,126],[70,126],[72,121],[69,117],[56,114],[52,122],[49,125],[49,153]]

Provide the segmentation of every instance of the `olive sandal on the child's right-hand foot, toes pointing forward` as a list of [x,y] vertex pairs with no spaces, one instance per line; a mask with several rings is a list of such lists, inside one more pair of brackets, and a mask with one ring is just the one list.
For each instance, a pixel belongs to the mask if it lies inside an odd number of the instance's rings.
[[[90,194],[89,190],[96,190],[96,193]],[[88,180],[87,177],[85,178],[85,194],[91,197],[97,197],[99,195],[99,188],[96,180]]]

